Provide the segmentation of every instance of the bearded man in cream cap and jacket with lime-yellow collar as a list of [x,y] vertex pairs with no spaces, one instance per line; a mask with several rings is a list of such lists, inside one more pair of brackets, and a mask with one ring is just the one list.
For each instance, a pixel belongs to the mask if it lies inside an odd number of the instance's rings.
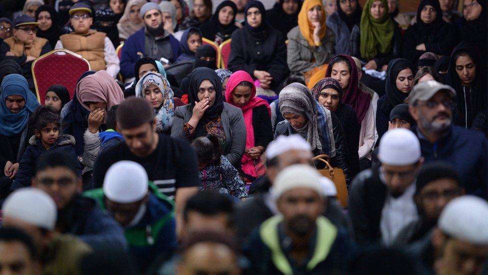
[[281,215],[265,220],[244,243],[256,274],[342,273],[352,250],[345,229],[321,216],[320,174],[309,165],[283,169],[272,187]]

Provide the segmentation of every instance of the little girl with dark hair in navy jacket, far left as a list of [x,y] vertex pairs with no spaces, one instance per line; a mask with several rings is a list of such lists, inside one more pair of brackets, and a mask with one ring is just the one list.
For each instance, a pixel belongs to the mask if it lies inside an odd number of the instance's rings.
[[29,145],[20,159],[18,172],[12,183],[12,190],[30,186],[30,178],[34,174],[37,159],[47,150],[62,151],[76,156],[74,137],[70,135],[59,136],[59,127],[59,115],[49,106],[39,107],[32,114],[29,128],[34,130],[34,135],[29,139]]

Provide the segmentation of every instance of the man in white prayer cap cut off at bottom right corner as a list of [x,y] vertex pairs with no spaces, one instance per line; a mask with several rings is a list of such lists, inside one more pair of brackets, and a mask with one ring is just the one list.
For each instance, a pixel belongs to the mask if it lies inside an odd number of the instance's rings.
[[488,202],[472,195],[449,201],[437,227],[419,244],[409,252],[432,274],[485,274]]

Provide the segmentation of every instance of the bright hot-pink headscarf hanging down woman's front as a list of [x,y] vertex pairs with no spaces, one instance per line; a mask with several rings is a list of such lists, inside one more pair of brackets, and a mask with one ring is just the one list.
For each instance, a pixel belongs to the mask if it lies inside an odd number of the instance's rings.
[[[234,91],[235,87],[237,87],[237,85],[239,85],[239,83],[241,83],[242,81],[247,81],[250,84],[252,84],[252,92],[249,101],[244,106],[239,107],[232,102],[232,92]],[[252,80],[251,76],[248,73],[244,71],[237,71],[229,77],[227,81],[227,87],[225,88],[225,101],[228,104],[238,107],[242,110],[242,114],[244,116],[245,131],[246,131],[245,148],[248,149],[254,147],[254,129],[252,128],[252,109],[254,109],[257,106],[264,105],[267,107],[269,117],[271,117],[271,108],[269,107],[269,104],[267,104],[265,100],[256,97],[256,87],[254,86],[254,80]],[[244,173],[256,177],[257,174],[256,174],[256,169],[254,166],[253,159],[249,158],[246,154],[244,154],[242,156],[240,163],[242,164],[242,171]]]

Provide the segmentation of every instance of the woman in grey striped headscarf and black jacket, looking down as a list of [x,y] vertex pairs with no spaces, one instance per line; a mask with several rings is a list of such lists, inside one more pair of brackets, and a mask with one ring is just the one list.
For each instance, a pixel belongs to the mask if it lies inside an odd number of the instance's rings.
[[330,165],[341,168],[349,179],[349,152],[337,117],[318,104],[308,88],[299,83],[281,90],[278,107],[285,120],[276,124],[274,138],[299,134],[310,144],[313,155],[328,155]]

